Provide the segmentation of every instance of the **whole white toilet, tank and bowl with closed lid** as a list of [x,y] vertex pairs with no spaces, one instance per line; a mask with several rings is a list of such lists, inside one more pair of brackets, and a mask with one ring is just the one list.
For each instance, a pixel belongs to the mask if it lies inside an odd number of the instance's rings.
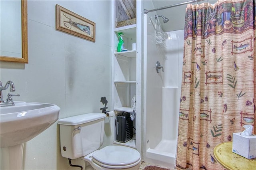
[[126,146],[99,149],[104,138],[104,113],[88,113],[60,119],[60,147],[65,158],[83,159],[95,170],[138,170],[140,153]]

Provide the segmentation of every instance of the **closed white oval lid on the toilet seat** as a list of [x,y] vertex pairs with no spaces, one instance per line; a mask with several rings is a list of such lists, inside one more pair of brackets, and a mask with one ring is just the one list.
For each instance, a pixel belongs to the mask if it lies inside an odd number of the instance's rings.
[[92,158],[102,164],[124,166],[138,162],[140,153],[126,146],[106,146],[92,154]]

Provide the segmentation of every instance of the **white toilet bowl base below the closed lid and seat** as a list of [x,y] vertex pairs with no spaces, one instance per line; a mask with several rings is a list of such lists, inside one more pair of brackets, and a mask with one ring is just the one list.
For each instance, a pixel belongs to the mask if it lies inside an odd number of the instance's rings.
[[[98,152],[99,150],[96,150],[84,157],[82,157],[83,160],[85,160],[86,162],[90,163],[90,165],[92,166],[92,168],[94,170],[116,170],[116,169],[112,169],[112,168],[105,168],[103,166],[100,166],[98,164],[96,164],[95,162],[93,162],[92,160],[92,154],[94,154],[95,152]],[[137,165],[132,166],[130,168],[122,168],[122,170],[138,170],[140,168],[140,164],[141,162],[139,162]],[[87,167],[87,166],[86,166]],[[89,168],[89,167],[88,167]],[[87,169],[86,169],[87,170]],[[90,168],[88,170],[91,170]]]

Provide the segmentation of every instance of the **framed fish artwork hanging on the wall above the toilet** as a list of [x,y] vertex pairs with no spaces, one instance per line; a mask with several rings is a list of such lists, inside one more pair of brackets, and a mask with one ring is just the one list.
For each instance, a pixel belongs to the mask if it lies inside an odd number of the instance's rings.
[[58,4],[56,29],[95,42],[95,23]]

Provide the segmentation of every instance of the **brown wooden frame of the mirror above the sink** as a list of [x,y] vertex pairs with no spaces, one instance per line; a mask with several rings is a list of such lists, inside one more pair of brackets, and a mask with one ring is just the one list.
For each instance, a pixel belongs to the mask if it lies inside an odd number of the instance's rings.
[[28,3],[21,0],[22,58],[0,56],[0,61],[28,63]]

